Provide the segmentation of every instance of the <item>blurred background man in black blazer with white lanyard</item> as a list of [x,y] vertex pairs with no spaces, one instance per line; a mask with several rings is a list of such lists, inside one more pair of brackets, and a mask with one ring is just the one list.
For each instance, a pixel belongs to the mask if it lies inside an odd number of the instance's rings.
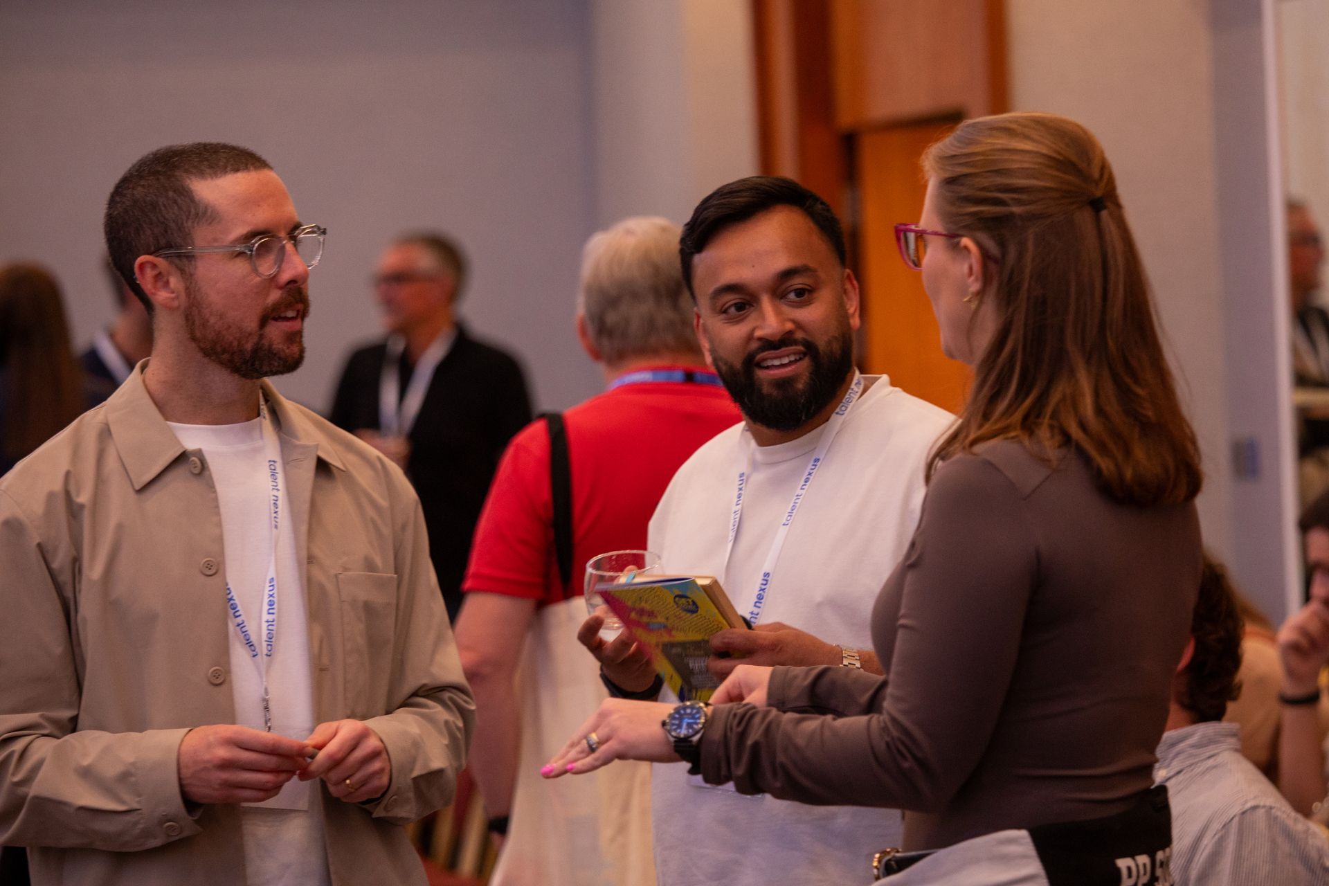
[[521,367],[456,320],[464,283],[465,260],[445,236],[395,240],[375,278],[388,339],[351,355],[330,416],[401,465],[415,484],[453,619],[498,457],[530,421]]

